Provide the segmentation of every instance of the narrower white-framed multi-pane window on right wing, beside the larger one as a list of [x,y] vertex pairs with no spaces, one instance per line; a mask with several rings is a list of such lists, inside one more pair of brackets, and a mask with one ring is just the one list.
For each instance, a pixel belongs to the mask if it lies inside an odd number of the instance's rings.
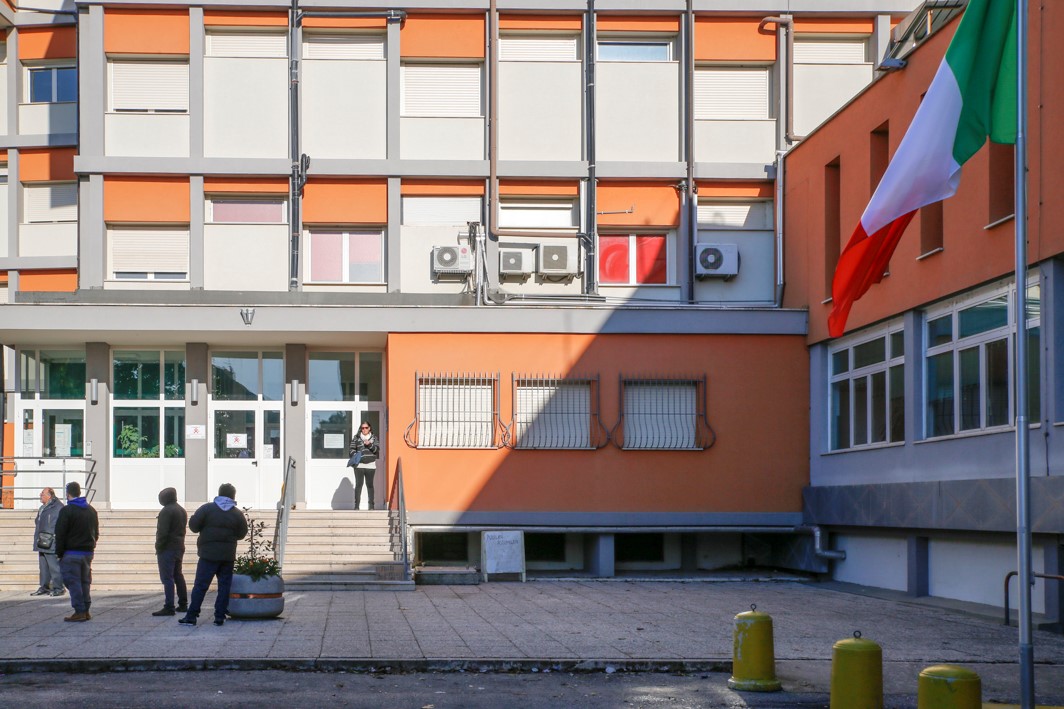
[[895,323],[832,348],[831,450],[905,440],[904,337]]

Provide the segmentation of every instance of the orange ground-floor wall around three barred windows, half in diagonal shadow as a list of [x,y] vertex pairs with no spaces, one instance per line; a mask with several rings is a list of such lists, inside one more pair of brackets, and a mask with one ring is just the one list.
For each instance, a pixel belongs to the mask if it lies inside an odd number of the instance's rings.
[[[652,363],[652,364],[650,364]],[[418,450],[416,372],[500,373],[511,422],[513,373],[599,375],[617,423],[618,376],[708,375],[716,444],[703,451]],[[743,376],[736,376],[742,372]],[[402,458],[406,504],[423,511],[798,512],[808,484],[809,359],[800,336],[392,334],[387,469]],[[777,422],[786,422],[779,425]]]

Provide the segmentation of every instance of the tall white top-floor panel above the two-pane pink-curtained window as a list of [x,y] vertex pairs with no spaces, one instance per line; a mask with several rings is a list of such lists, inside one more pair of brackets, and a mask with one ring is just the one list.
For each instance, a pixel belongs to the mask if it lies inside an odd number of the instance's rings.
[[303,62],[303,151],[350,160],[387,156],[384,62]]

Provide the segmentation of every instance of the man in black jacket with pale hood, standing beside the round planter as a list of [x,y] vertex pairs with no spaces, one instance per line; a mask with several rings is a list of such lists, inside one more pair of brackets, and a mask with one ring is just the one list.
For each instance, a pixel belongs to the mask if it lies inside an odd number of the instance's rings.
[[228,482],[218,488],[213,502],[200,507],[188,521],[188,528],[199,533],[196,550],[196,581],[188,612],[178,621],[182,625],[196,625],[203,596],[211,581],[218,577],[218,597],[214,601],[214,624],[226,622],[229,610],[229,590],[233,584],[233,562],[236,561],[236,543],[248,533],[248,521],[236,508],[236,488]]

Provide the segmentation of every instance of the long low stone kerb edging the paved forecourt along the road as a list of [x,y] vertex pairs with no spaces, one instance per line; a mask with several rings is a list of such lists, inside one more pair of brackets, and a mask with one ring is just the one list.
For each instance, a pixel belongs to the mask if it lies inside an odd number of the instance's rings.
[[0,660],[0,675],[30,672],[239,672],[280,670],[283,672],[354,672],[402,674],[414,672],[464,673],[551,673],[551,672],[642,672],[705,673],[732,671],[731,660],[552,660],[552,659],[393,659],[380,658],[111,658],[63,660]]

